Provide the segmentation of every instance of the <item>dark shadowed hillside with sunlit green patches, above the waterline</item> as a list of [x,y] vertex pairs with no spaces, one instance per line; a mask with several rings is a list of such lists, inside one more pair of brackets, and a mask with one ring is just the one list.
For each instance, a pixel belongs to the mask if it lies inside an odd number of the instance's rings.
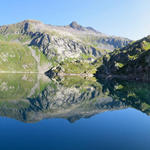
[[149,55],[150,36],[104,56],[103,65],[98,68],[96,75],[105,74],[127,79],[149,80]]

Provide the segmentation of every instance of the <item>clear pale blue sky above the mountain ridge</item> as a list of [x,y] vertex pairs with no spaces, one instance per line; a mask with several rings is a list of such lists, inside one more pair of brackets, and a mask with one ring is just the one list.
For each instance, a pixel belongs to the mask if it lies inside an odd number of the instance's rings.
[[150,34],[150,0],[0,0],[0,25],[25,19],[83,26],[136,40]]

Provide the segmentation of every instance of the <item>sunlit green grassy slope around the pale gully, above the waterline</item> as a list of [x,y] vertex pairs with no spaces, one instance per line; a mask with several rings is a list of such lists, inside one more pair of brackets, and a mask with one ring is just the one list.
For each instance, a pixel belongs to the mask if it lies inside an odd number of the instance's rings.
[[[37,62],[35,60],[34,57],[32,57],[32,54],[29,50],[28,47],[28,43],[31,40],[31,37],[29,35],[25,35],[25,34],[16,34],[14,33],[14,31],[17,30],[15,29],[15,27],[12,29],[12,33],[10,34],[0,34],[0,54],[16,54],[16,60],[14,58],[9,60],[10,62],[1,62],[2,64],[4,64],[3,68],[0,68],[0,71],[26,71],[26,72],[30,72],[30,71],[38,71],[38,67],[39,66],[44,66],[47,65],[49,63],[51,63],[51,61],[49,61],[46,56],[39,50],[38,47],[32,47],[33,50],[35,50],[35,54],[37,57],[40,58],[40,61]],[[25,46],[23,46],[25,45]],[[10,52],[11,51],[11,52]],[[25,56],[25,57],[23,57]],[[18,62],[18,63],[17,63]],[[9,68],[6,67],[6,65],[9,65]],[[16,66],[14,66],[15,64],[17,64]],[[18,65],[20,64],[20,65]],[[28,68],[22,68],[21,65],[28,65]],[[12,68],[10,70],[10,68]]]

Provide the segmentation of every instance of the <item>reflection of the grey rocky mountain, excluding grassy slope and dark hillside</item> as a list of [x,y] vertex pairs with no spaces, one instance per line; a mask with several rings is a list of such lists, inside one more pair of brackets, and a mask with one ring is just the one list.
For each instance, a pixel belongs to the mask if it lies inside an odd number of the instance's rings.
[[66,118],[74,122],[94,114],[122,109],[126,106],[102,92],[99,83],[79,77],[51,81],[36,97],[23,100],[1,101],[0,115],[24,122],[44,118]]

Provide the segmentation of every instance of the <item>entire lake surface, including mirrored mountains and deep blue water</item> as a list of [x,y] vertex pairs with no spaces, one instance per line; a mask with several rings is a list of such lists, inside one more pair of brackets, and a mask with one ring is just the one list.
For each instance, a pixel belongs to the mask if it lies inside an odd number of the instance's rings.
[[149,150],[150,85],[0,76],[0,149]]

